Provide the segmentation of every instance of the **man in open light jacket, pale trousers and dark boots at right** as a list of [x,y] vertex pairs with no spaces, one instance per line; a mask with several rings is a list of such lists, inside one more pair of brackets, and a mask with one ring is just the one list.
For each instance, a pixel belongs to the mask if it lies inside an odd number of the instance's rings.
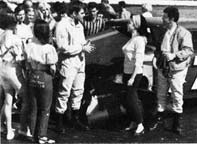
[[[181,134],[181,115],[183,113],[183,84],[193,55],[191,33],[178,25],[179,11],[167,7],[163,11],[163,24],[167,28],[157,56],[157,122],[164,117],[164,111],[173,114],[172,130]],[[163,59],[163,60],[162,60]],[[161,64],[165,63],[165,65]],[[168,92],[171,91],[172,103],[168,103]],[[157,126],[154,125],[153,128]]]

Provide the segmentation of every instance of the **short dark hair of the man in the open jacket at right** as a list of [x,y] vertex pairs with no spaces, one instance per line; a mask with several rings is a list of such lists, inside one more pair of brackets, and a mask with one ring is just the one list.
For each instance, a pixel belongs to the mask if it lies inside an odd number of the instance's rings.
[[179,20],[179,10],[176,7],[169,6],[163,12],[168,14],[169,19],[174,18],[175,22]]

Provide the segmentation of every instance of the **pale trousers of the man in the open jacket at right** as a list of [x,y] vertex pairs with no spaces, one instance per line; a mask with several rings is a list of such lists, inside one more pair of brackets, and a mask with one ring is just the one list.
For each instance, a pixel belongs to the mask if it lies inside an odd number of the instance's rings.
[[[183,112],[183,84],[188,68],[172,73],[171,78],[163,76],[162,71],[158,70],[158,87],[157,87],[157,98],[158,98],[158,112],[163,112],[166,109],[174,111],[176,113]],[[171,90],[172,102],[168,103],[168,92]]]

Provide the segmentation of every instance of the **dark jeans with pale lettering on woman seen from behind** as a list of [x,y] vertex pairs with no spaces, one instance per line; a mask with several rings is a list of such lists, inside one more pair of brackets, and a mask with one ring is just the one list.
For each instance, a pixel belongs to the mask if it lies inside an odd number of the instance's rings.
[[[53,95],[52,76],[46,72],[37,71],[30,77],[34,77],[39,81],[36,84],[28,81],[28,93],[31,103],[30,129],[34,137],[37,138],[47,136]],[[29,79],[31,79],[30,77]]]

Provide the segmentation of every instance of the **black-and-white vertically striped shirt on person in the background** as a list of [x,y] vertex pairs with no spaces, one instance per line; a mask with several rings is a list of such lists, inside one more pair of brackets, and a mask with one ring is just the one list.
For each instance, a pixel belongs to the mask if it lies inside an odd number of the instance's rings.
[[102,17],[93,20],[90,16],[86,16],[83,21],[85,36],[91,36],[101,32],[105,28],[105,21]]

